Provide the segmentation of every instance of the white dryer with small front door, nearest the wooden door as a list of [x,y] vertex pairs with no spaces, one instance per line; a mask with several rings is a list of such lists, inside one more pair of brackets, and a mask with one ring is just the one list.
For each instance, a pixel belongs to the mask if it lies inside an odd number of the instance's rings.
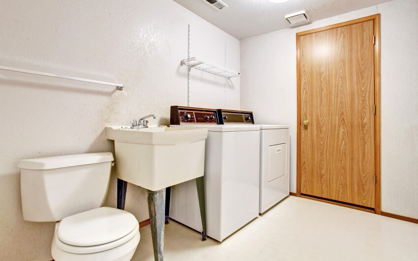
[[288,125],[254,124],[252,112],[218,109],[221,124],[253,124],[260,127],[259,212],[289,196],[290,137]]

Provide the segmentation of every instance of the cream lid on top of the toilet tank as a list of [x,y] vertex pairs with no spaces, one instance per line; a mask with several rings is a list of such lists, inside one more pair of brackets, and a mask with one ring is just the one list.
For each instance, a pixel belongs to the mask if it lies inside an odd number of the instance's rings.
[[79,165],[113,161],[112,152],[62,155],[47,158],[24,159],[17,165],[21,169],[51,170]]

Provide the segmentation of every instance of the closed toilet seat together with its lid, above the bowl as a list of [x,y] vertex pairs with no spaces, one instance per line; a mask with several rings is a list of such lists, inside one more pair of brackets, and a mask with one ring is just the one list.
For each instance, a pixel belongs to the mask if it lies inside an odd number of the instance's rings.
[[118,247],[138,233],[138,221],[131,213],[99,207],[64,218],[54,241],[65,252],[89,254]]

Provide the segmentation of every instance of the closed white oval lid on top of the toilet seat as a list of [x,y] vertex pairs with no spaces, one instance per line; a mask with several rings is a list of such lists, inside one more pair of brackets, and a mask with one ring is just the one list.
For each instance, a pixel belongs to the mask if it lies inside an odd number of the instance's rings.
[[99,207],[61,220],[58,238],[73,246],[96,246],[122,238],[132,232],[138,221],[131,213]]

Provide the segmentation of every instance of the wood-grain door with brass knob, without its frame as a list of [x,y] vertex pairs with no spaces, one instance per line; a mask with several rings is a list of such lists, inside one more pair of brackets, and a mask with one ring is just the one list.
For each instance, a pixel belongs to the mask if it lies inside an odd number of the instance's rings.
[[299,37],[301,194],[375,207],[373,23]]

